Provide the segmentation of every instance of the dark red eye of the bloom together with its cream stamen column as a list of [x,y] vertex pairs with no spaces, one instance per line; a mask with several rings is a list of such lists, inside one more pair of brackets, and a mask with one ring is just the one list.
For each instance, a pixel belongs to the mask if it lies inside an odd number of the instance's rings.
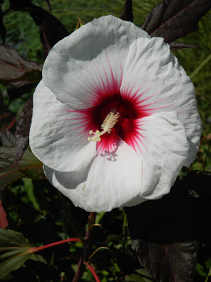
[[148,111],[137,106],[136,99],[122,97],[120,93],[113,94],[106,99],[100,99],[89,109],[91,123],[89,141],[98,142],[98,150],[110,152],[113,145],[117,145],[121,138],[134,147],[136,139],[140,138],[139,118],[148,116]]

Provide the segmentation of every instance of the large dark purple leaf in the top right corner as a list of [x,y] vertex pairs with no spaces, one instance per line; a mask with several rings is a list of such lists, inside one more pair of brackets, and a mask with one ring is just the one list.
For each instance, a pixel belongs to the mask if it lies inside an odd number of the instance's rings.
[[141,29],[172,42],[197,30],[198,21],[210,7],[210,0],[164,0],[148,13]]

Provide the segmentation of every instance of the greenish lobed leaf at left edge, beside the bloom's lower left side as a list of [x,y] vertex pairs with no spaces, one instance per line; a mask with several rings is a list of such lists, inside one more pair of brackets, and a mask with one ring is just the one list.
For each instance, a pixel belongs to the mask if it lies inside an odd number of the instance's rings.
[[20,178],[45,178],[42,163],[28,148],[19,163],[11,168],[15,161],[15,137],[9,131],[0,133],[2,146],[0,147],[0,190],[5,185]]

